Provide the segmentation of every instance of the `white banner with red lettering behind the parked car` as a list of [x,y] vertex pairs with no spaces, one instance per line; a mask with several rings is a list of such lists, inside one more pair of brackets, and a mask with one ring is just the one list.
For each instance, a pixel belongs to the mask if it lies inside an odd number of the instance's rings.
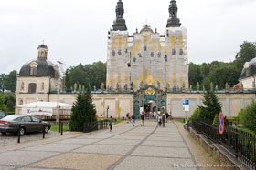
[[22,114],[52,116],[52,108],[22,108]]

